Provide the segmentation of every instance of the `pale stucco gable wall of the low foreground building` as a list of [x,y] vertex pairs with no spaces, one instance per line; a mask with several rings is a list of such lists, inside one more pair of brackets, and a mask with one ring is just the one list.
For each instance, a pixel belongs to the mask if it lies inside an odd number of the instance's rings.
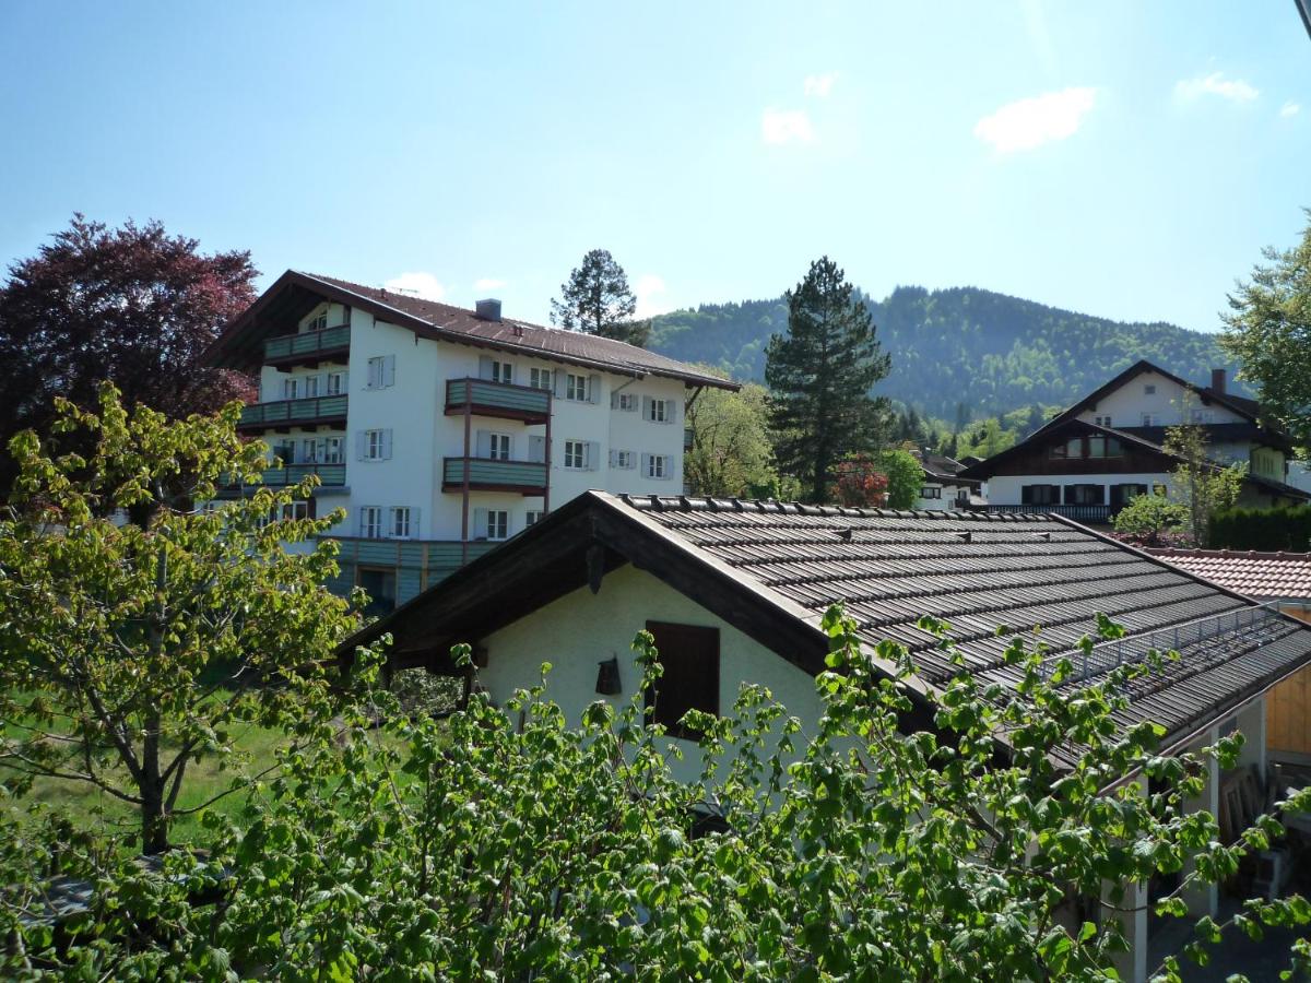
[[[802,721],[804,733],[814,733],[822,706],[814,676],[631,565],[607,574],[598,594],[581,587],[481,640],[488,665],[479,671],[479,682],[503,704],[515,689],[535,685],[541,663],[549,662],[547,695],[570,723],[577,723],[591,703],[606,700],[619,706],[637,692],[641,672],[631,646],[648,620],[720,629],[721,713],[732,712],[742,683],[756,683]],[[615,657],[623,692],[598,695],[597,666]],[[696,746],[675,743],[686,755],[674,764],[675,775],[684,781],[695,779],[700,772]]]

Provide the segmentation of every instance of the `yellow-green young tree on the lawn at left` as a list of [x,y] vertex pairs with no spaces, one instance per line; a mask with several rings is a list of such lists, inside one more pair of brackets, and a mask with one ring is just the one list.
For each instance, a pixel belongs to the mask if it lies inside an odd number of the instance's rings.
[[[324,582],[336,545],[291,553],[342,514],[284,518],[317,481],[218,507],[224,481],[257,484],[265,446],[236,433],[239,404],[169,421],[60,400],[58,438],[14,436],[0,512],[0,773],[85,782],[140,813],[140,845],[168,845],[189,763],[235,754],[233,729],[298,713],[326,685],[324,655],[354,624]],[[101,518],[130,510],[139,522]],[[119,512],[121,515],[122,512]],[[273,519],[270,520],[270,516]],[[227,790],[218,793],[227,794]]]

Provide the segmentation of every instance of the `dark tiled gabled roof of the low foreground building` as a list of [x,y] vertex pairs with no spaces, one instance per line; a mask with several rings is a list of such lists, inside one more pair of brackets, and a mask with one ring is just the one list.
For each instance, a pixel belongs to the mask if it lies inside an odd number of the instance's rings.
[[[437,665],[450,645],[477,642],[585,583],[604,591],[603,573],[624,562],[812,672],[829,645],[822,615],[843,602],[871,651],[884,638],[910,649],[922,704],[957,671],[916,628],[926,615],[952,625],[969,671],[1002,684],[1019,679],[1004,665],[1016,633],[1071,653],[1099,612],[1126,628],[1129,645],[1180,628],[1171,637],[1183,658],[1135,683],[1118,716],[1122,725],[1163,723],[1176,739],[1311,661],[1311,630],[1299,623],[1061,516],[602,492],[574,498],[341,651],[391,632],[400,658]],[[1205,625],[1215,630],[1202,637]]]

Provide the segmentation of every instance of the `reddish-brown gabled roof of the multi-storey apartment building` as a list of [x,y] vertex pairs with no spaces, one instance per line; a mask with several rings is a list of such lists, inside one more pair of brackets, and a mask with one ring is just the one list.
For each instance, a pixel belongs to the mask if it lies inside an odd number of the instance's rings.
[[679,379],[688,385],[712,385],[720,389],[741,388],[737,383],[709,375],[686,362],[621,341],[513,318],[488,321],[463,307],[296,270],[282,274],[228,325],[210,346],[205,359],[228,368],[258,366],[262,362],[264,341],[274,334],[287,333],[288,322],[299,320],[323,300],[367,311],[382,321],[409,328],[422,338],[515,351],[620,375],[663,376]]

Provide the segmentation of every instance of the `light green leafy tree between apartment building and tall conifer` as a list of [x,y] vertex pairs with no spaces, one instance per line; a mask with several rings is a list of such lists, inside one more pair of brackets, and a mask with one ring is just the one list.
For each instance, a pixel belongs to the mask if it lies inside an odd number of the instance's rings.
[[747,495],[777,482],[764,387],[703,389],[687,409],[692,446],[683,473],[692,494]]

